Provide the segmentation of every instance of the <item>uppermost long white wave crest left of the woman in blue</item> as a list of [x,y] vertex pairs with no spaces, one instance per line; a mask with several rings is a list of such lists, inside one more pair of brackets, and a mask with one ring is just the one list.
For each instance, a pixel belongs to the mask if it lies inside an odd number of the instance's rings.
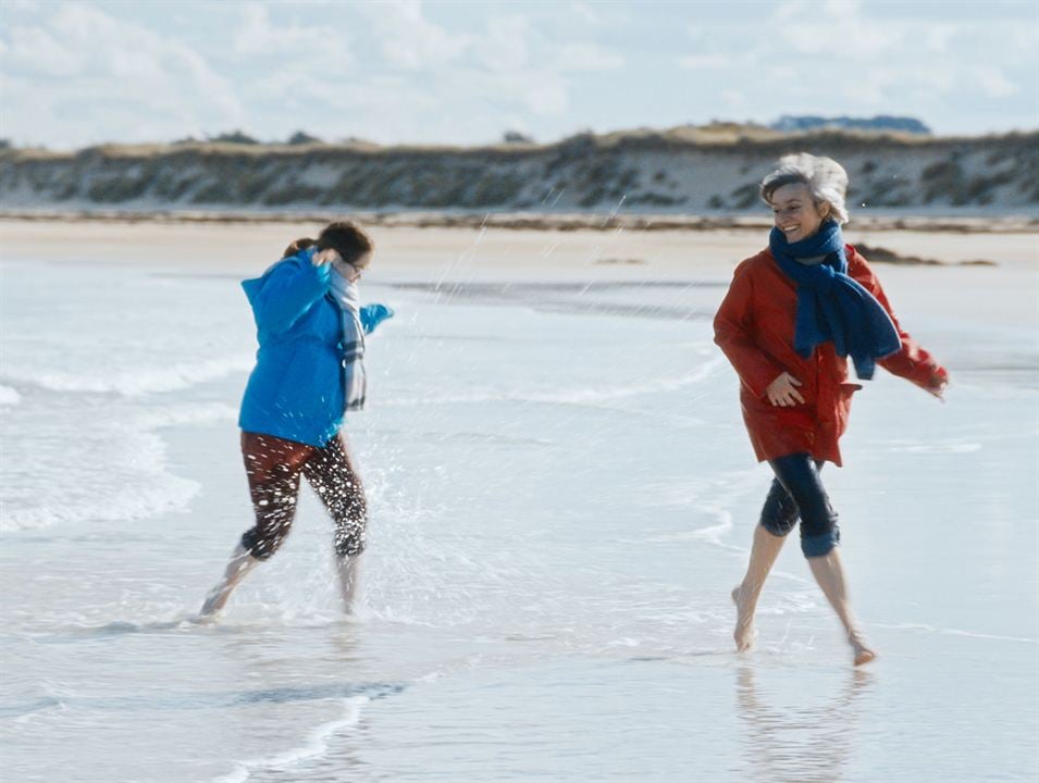
[[114,393],[126,397],[139,397],[159,391],[176,391],[197,384],[215,381],[224,375],[248,371],[252,368],[252,356],[235,353],[200,362],[137,368],[103,375],[73,373],[62,370],[12,371],[10,368],[4,368],[4,376],[12,381],[30,384],[51,391]]

